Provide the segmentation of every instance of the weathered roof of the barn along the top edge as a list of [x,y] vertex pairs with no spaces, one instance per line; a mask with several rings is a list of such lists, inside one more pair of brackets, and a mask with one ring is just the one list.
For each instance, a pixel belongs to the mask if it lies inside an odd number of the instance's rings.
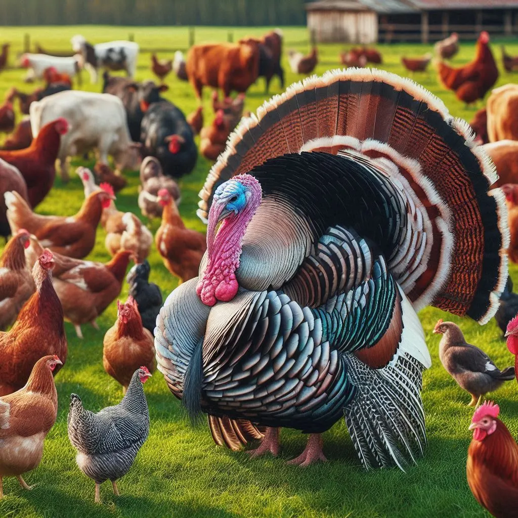
[[375,11],[404,13],[452,9],[501,9],[518,7],[516,0],[318,0],[307,11]]

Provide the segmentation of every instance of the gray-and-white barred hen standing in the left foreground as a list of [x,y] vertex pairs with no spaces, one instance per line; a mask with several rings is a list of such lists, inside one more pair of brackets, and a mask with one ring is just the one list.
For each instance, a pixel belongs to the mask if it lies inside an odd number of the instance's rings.
[[147,367],[137,369],[119,405],[94,414],[85,410],[77,394],[70,395],[68,438],[78,451],[79,469],[95,481],[95,502],[100,502],[100,484],[111,480],[119,495],[117,480],[132,467],[149,434],[149,410],[142,384],[151,376]]

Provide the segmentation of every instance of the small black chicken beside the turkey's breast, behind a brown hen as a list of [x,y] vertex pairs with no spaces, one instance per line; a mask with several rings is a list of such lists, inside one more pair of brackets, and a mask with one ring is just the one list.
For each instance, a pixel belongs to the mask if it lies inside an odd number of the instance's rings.
[[151,267],[146,259],[136,264],[126,277],[130,285],[130,295],[136,301],[142,318],[142,325],[151,333],[155,328],[156,315],[162,307],[162,292],[153,282],[149,282]]

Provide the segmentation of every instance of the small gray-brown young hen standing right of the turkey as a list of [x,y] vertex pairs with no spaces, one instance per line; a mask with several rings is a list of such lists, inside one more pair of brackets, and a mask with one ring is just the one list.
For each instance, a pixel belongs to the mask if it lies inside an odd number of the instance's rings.
[[514,379],[514,367],[500,370],[478,347],[464,339],[461,329],[453,322],[439,320],[434,333],[442,335],[439,358],[444,368],[465,391],[471,394],[469,406],[474,406],[487,392],[493,392],[504,381]]

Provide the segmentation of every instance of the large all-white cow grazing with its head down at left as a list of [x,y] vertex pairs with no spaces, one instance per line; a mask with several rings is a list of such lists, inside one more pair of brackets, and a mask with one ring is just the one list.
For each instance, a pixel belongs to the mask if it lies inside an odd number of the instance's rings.
[[130,138],[124,105],[114,95],[68,90],[33,102],[29,112],[34,138],[48,122],[59,117],[68,121],[57,156],[64,181],[68,180],[67,158],[91,149],[97,149],[104,164],[110,154],[118,169],[138,166],[139,146]]

